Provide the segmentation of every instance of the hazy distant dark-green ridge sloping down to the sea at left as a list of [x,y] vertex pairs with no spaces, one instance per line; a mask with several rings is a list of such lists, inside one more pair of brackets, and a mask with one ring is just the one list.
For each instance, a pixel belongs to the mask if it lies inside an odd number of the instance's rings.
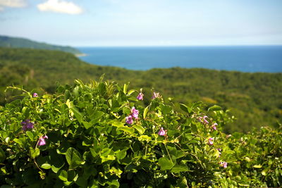
[[46,44],[43,42],[35,42],[30,39],[23,39],[18,37],[0,36],[0,46],[8,48],[27,48],[27,49],[48,49],[66,51],[72,54],[81,54],[78,49],[71,46],[57,46]]

